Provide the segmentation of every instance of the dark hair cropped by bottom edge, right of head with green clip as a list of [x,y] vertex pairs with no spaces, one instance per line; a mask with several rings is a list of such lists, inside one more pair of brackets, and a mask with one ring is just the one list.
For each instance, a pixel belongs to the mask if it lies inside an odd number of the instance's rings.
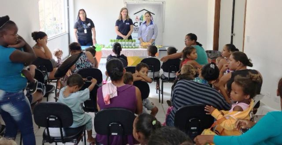
[[192,140],[184,132],[175,127],[165,126],[150,136],[147,145],[180,145],[184,142],[192,145]]

